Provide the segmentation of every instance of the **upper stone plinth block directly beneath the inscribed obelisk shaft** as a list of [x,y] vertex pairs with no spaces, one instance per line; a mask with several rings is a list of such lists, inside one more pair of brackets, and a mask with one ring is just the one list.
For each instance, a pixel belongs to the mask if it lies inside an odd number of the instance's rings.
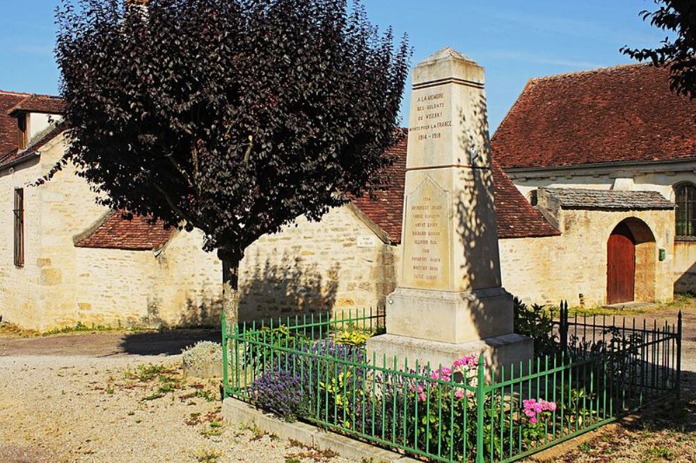
[[514,332],[512,295],[503,288],[439,291],[397,288],[387,296],[388,333],[466,343]]

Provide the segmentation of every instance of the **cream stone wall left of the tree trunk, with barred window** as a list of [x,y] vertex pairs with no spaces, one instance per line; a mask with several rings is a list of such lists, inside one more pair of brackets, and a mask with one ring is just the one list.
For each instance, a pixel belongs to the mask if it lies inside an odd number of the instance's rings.
[[0,205],[12,210],[25,186],[25,263],[13,265],[13,216],[0,214],[0,314],[37,330],[74,325],[209,324],[219,320],[221,270],[201,250],[200,232],[177,233],[161,252],[74,247],[73,238],[101,218],[72,165],[38,188],[35,181],[61,158],[61,136],[40,158],[0,172]]

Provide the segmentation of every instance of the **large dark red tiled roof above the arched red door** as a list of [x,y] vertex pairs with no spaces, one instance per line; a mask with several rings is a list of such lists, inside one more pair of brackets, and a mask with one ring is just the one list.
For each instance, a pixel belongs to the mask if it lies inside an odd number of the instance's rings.
[[669,71],[623,65],[531,79],[491,140],[504,169],[696,157],[696,101]]

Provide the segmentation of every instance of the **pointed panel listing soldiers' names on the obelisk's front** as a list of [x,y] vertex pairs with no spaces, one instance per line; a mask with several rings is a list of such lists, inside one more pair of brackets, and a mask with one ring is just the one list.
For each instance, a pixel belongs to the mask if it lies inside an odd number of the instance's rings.
[[406,195],[402,286],[450,288],[449,194],[425,177]]

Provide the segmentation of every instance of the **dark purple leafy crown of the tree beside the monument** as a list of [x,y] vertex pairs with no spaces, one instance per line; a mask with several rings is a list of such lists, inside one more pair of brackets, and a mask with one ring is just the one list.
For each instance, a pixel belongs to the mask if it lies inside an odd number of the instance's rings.
[[57,20],[64,162],[106,206],[236,258],[383,183],[410,50],[360,6],[63,0]]

